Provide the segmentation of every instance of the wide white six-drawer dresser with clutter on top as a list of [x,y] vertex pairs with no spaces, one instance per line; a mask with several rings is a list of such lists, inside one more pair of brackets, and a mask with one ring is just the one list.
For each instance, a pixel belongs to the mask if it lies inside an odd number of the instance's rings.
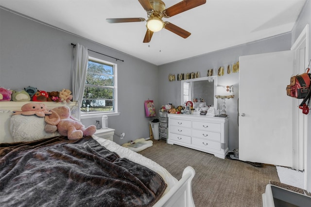
[[167,143],[200,150],[225,159],[228,152],[228,117],[168,114]]

